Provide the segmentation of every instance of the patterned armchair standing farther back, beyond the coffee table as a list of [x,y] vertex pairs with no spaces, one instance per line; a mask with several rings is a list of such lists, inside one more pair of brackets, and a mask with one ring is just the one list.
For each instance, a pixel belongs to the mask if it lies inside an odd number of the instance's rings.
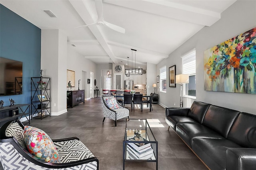
[[103,121],[105,121],[106,118],[112,119],[115,121],[115,127],[116,127],[116,121],[119,119],[122,119],[124,117],[128,117],[129,119],[129,109],[126,107],[123,107],[116,101],[115,96],[102,96],[101,97],[101,103],[102,103],[102,109],[103,109]]

